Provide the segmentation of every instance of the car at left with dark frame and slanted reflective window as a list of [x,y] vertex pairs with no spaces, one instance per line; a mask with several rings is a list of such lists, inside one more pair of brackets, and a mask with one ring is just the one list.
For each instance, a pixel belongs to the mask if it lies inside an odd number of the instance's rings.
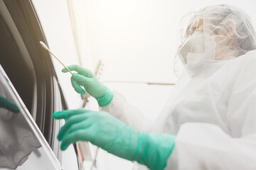
[[[39,43],[44,41],[47,45],[47,40],[30,0],[0,0],[0,37],[0,89],[20,109],[18,119],[26,126],[25,134],[27,132],[35,138],[33,144],[38,142],[35,149],[26,152],[26,157],[9,166],[2,162],[10,161],[6,159],[8,155],[2,154],[0,169],[81,169],[77,145],[63,152],[56,137],[65,122],[53,120],[52,114],[68,109],[68,105],[53,61]],[[1,111],[6,113],[3,109]],[[17,116],[14,113],[10,115],[8,120],[0,118],[8,122]],[[16,124],[6,126],[7,129],[11,127],[16,127]],[[10,139],[18,137],[19,132],[15,128],[8,132]],[[0,138],[4,134],[6,132],[2,129]],[[15,144],[20,146],[12,150],[17,155],[26,140]],[[67,158],[68,162],[63,161]]]

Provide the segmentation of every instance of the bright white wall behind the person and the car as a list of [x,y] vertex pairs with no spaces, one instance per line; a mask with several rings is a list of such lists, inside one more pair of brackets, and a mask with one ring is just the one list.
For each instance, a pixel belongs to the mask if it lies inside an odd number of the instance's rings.
[[[213,4],[230,4],[246,11],[256,28],[255,0],[71,0],[78,31],[82,66],[105,64],[102,81],[175,82],[172,60],[176,54],[176,28],[183,14]],[[65,64],[78,64],[70,25],[68,2],[33,0],[50,49]],[[54,60],[55,61],[55,60]],[[80,95],[70,75],[56,72],[70,108],[80,107]],[[156,117],[173,86],[108,83],[121,91],[145,115]],[[99,169],[131,169],[132,164],[102,152]]]

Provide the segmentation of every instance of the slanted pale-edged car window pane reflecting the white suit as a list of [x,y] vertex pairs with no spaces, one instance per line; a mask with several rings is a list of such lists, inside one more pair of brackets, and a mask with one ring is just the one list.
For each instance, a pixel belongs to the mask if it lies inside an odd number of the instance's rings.
[[0,96],[18,107],[0,108],[0,169],[61,169],[58,159],[0,65]]

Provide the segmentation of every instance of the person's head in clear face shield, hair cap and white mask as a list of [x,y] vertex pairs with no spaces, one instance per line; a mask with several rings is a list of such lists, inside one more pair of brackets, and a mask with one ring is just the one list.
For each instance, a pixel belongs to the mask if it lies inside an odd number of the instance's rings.
[[204,63],[233,60],[256,49],[250,17],[234,6],[206,6],[198,12],[187,13],[181,18],[178,35],[176,58],[190,70]]

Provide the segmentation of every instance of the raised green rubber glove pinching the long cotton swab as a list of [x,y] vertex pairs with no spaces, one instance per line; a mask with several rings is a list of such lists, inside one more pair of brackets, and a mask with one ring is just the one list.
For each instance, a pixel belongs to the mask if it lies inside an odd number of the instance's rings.
[[[90,96],[96,98],[99,106],[102,107],[107,106],[112,101],[112,91],[100,83],[89,69],[82,68],[78,65],[70,65],[68,69],[78,72],[73,73],[71,77],[71,84],[78,94],[85,94],[85,91],[87,91]],[[68,72],[68,70],[64,68],[62,72]],[[85,88],[85,91],[81,86]]]

